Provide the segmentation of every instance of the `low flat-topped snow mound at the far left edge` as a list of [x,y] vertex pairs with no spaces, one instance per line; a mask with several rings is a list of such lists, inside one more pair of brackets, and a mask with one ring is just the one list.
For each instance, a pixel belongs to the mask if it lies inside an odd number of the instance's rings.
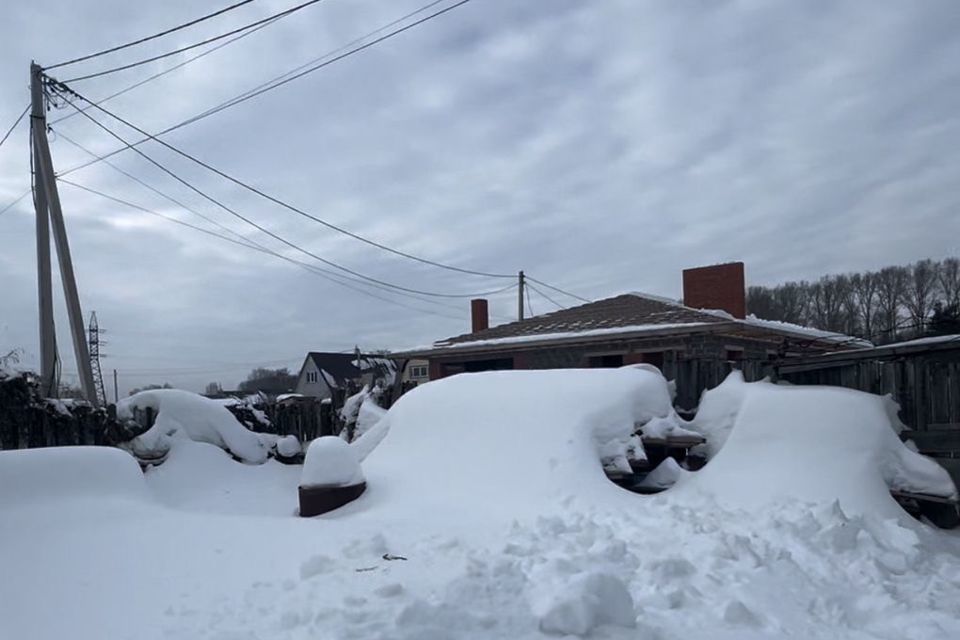
[[77,498],[148,498],[140,466],[113,447],[0,451],[0,509]]

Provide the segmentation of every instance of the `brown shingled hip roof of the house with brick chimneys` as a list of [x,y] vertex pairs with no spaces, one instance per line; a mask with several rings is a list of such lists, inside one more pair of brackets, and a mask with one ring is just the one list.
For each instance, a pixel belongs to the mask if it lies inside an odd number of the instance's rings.
[[553,333],[580,333],[593,329],[725,322],[729,320],[684,307],[678,302],[627,293],[526,320],[502,324],[476,333],[465,333],[438,341],[434,346],[444,347],[461,342]]

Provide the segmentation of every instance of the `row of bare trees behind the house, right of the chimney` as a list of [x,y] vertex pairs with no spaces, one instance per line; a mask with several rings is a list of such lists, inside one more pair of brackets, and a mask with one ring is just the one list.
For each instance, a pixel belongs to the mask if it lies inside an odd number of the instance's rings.
[[747,289],[750,313],[893,342],[944,333],[960,321],[960,258]]

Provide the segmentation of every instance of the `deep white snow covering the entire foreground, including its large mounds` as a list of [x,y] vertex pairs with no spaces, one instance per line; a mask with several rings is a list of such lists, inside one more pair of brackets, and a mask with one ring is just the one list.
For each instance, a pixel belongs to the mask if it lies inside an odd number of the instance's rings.
[[943,477],[882,400],[740,385],[716,457],[656,496],[598,455],[675,420],[629,368],[418,387],[350,445],[366,493],[309,519],[300,467],[209,443],[145,476],[119,450],[0,454],[0,637],[960,637],[960,536],[886,493]]

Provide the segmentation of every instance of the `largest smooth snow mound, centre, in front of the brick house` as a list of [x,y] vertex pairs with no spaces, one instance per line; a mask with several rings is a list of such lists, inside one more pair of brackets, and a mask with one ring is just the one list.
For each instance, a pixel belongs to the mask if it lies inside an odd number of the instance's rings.
[[[562,508],[567,498],[631,498],[607,479],[601,458],[626,456],[639,446],[635,424],[672,413],[663,376],[637,368],[436,380],[401,397],[354,443],[361,455],[373,449],[360,501],[409,513],[462,513],[471,504],[469,515],[509,522]],[[374,439],[382,439],[375,449]]]

